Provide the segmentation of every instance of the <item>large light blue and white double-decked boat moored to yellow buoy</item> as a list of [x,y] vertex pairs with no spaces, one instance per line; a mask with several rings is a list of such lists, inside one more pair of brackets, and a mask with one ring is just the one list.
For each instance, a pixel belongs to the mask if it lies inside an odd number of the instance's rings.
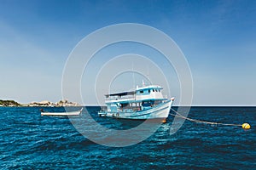
[[174,98],[167,99],[159,85],[143,84],[135,90],[116,94],[106,94],[107,110],[99,111],[99,116],[122,119],[162,119],[169,116]]

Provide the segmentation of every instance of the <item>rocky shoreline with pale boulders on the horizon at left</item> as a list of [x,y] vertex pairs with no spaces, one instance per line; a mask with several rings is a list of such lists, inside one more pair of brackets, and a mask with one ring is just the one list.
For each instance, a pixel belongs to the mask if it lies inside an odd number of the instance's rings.
[[36,102],[33,101],[29,104],[20,104],[18,102],[16,102],[15,100],[2,100],[0,99],[0,107],[37,107],[37,106],[41,106],[41,107],[64,107],[64,106],[81,106],[79,105],[79,103],[76,102],[70,102],[67,101],[67,99],[61,99],[59,102],[53,103],[50,102],[48,100],[44,100],[41,102]]

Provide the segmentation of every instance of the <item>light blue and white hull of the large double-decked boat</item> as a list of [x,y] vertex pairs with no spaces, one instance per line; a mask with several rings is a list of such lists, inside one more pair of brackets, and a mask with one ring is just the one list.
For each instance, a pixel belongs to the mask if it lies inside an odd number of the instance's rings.
[[172,101],[168,100],[160,105],[155,105],[148,110],[143,111],[100,111],[99,116],[107,116],[122,119],[166,119],[169,116],[169,111],[172,107]]

